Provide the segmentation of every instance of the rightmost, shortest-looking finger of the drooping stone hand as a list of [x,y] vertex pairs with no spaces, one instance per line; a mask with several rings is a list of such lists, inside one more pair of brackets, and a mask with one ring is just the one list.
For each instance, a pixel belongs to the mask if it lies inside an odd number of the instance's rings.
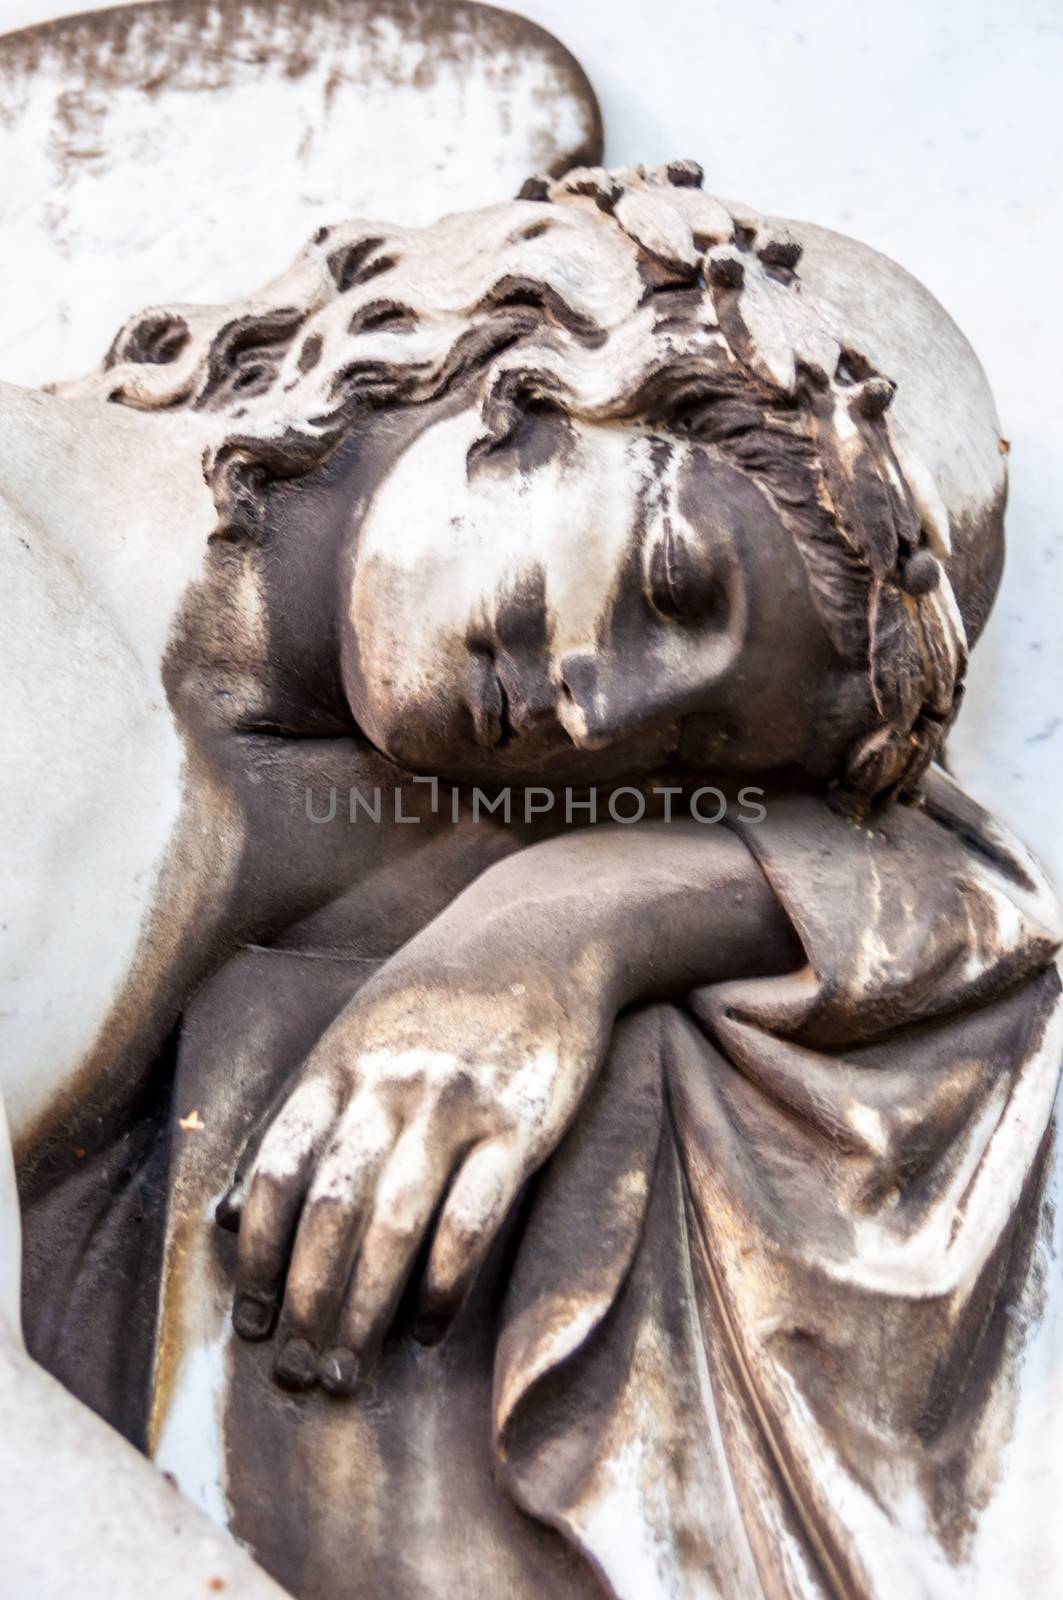
[[455,1178],[424,1270],[413,1328],[421,1344],[435,1344],[450,1326],[525,1176],[527,1165],[514,1146],[493,1141],[479,1144]]

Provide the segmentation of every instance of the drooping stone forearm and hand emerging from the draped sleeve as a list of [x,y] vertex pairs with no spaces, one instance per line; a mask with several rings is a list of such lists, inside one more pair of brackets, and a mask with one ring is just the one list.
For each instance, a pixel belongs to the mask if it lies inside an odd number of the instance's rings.
[[231,1197],[237,1330],[269,1334],[283,1296],[279,1378],[349,1392],[439,1216],[421,1291],[439,1334],[616,1013],[799,960],[719,829],[604,827],[490,867],[341,1013]]

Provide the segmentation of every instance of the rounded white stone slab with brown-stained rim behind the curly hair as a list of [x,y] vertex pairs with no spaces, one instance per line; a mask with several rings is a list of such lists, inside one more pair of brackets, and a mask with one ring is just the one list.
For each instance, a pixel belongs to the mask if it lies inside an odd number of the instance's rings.
[[573,58],[466,0],[162,0],[0,35],[0,378],[93,365],[131,306],[231,299],[322,222],[427,222],[600,150]]

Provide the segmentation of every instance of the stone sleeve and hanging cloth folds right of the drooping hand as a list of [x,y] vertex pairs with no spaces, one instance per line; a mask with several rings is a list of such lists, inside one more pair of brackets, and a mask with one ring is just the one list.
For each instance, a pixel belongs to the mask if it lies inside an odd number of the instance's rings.
[[504,1480],[618,1600],[1050,1587],[1053,898],[943,778],[741,832],[807,966],[620,1026],[520,1240]]

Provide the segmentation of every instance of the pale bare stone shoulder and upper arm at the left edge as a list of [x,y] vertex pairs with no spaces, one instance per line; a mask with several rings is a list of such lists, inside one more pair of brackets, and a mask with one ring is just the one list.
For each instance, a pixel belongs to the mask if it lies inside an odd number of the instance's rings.
[[16,1147],[99,1043],[186,808],[162,666],[213,526],[203,432],[0,387],[0,570],[18,595],[0,630],[0,826],[19,842],[0,894],[0,1027]]

